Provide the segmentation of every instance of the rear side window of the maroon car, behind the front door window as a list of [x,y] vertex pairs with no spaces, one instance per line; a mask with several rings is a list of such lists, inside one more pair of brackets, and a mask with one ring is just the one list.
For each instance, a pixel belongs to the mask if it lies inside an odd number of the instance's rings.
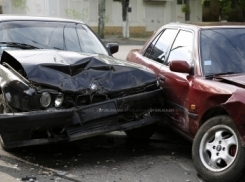
[[[147,57],[153,59],[157,62],[163,63],[172,40],[176,36],[178,30],[176,29],[166,29],[162,35],[160,35],[159,39],[155,39],[157,42],[151,46],[151,53]],[[149,47],[150,47],[149,46]],[[148,47],[148,48],[149,48]]]

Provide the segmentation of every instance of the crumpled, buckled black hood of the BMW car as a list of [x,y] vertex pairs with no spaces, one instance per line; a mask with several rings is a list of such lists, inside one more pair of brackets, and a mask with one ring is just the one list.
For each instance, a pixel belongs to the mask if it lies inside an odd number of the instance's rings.
[[28,80],[64,92],[117,92],[147,86],[156,76],[147,68],[97,54],[58,50],[4,51],[1,62],[19,62]]

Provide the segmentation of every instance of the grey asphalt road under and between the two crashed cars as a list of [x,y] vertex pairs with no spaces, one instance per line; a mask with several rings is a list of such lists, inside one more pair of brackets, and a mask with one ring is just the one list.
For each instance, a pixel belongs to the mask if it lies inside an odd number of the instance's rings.
[[[120,46],[114,56],[125,59],[130,49],[140,47]],[[0,182],[202,182],[191,145],[163,125],[145,143],[112,132],[11,153],[0,149]]]

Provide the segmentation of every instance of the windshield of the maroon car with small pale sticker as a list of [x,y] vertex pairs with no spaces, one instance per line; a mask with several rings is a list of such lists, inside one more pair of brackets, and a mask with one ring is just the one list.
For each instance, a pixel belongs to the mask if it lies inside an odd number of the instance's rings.
[[245,29],[202,30],[200,38],[205,76],[245,72]]

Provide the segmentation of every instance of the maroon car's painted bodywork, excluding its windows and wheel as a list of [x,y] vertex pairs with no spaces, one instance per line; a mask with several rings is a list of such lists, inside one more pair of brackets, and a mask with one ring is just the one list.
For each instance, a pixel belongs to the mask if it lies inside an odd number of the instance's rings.
[[[233,119],[241,135],[242,144],[245,146],[244,74],[220,75],[213,79],[203,77],[199,46],[200,31],[203,29],[244,27],[244,24],[240,23],[201,23],[190,25],[172,23],[154,32],[141,50],[131,50],[128,53],[128,61],[145,66],[152,65],[155,64],[152,62],[156,61],[145,57],[144,54],[160,32],[174,28],[179,31],[185,30],[193,33],[192,59],[194,64],[191,65],[193,73],[174,72],[169,69],[169,66],[164,64],[154,68],[149,67],[155,72],[163,88],[165,107],[173,111],[165,113],[166,121],[191,140],[208,118],[219,114],[228,114]],[[170,47],[172,47],[173,42]]]

